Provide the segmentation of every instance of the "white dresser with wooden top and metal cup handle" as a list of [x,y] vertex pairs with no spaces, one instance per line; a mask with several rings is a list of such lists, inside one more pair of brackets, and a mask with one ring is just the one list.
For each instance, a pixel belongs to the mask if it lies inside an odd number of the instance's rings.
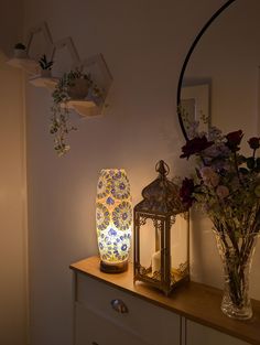
[[247,345],[260,344],[260,302],[254,317],[238,322],[223,315],[221,292],[198,283],[166,298],[133,284],[131,267],[120,274],[99,271],[99,259],[73,263],[74,345]]

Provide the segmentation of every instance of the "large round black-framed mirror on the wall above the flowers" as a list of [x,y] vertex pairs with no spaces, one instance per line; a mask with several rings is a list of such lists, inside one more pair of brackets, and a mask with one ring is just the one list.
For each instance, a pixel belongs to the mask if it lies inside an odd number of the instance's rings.
[[[260,1],[227,1],[205,24],[184,61],[177,89],[180,125],[202,116],[224,132],[259,136]],[[201,121],[202,122],[202,121]],[[202,130],[207,130],[202,125]]]

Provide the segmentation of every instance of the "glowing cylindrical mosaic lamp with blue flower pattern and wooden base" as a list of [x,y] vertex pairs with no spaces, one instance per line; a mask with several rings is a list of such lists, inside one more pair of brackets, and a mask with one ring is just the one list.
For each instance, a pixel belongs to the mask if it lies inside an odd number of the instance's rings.
[[131,245],[132,204],[123,169],[101,170],[97,185],[96,224],[101,271],[124,271]]

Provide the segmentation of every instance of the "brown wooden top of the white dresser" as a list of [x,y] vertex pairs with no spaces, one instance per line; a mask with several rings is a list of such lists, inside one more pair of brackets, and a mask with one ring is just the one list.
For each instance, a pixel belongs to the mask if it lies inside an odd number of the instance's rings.
[[253,317],[251,320],[236,321],[220,311],[223,292],[216,288],[188,282],[176,288],[167,298],[161,291],[142,282],[133,283],[132,265],[129,265],[128,271],[123,273],[109,274],[99,270],[98,257],[90,257],[71,265],[71,268],[188,320],[260,345],[260,301],[252,300]]

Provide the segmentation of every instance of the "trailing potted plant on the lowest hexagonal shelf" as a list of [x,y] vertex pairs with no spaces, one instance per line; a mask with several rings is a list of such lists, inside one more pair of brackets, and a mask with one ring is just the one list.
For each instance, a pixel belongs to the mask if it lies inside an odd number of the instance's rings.
[[104,93],[93,82],[90,74],[85,74],[78,68],[65,73],[58,80],[52,94],[53,106],[50,133],[54,136],[54,149],[57,154],[64,155],[69,149],[66,137],[74,126],[69,123],[69,100],[93,100],[97,105],[104,100]]

